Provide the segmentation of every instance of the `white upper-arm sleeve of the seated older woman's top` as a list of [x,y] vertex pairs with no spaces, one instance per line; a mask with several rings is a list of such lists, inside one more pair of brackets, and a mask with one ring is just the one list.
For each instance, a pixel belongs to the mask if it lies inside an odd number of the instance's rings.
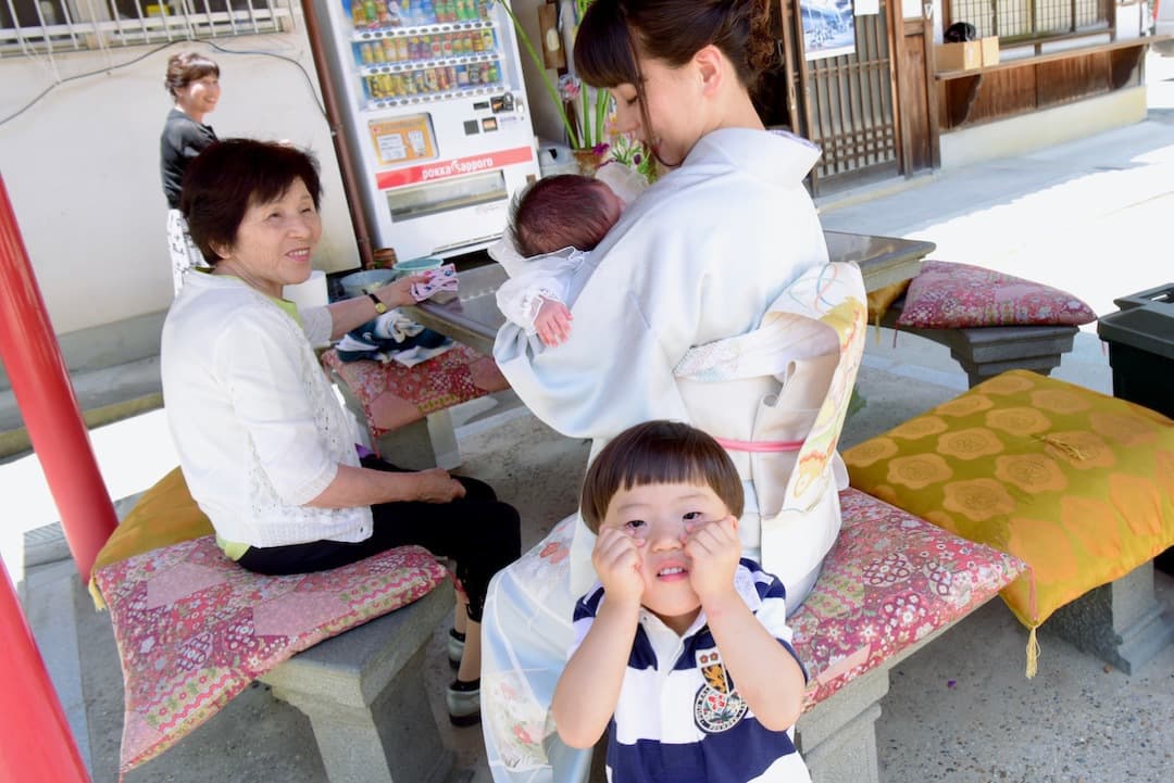
[[338,474],[338,458],[319,431],[305,379],[303,349],[312,352],[299,345],[301,331],[276,307],[272,313],[249,311],[232,321],[215,361],[235,424],[248,434],[277,496],[303,505]]

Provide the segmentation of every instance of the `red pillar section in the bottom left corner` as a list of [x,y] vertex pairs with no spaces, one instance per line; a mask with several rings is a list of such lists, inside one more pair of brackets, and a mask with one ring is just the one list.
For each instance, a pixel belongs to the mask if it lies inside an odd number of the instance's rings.
[[4,561],[0,580],[0,781],[89,783]]

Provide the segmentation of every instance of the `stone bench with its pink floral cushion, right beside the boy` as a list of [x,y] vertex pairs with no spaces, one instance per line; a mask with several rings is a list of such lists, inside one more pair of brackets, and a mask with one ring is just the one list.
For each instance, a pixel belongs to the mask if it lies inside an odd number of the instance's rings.
[[814,783],[877,783],[889,672],[1025,566],[857,490],[841,504],[839,538],[789,619],[810,676],[797,745]]

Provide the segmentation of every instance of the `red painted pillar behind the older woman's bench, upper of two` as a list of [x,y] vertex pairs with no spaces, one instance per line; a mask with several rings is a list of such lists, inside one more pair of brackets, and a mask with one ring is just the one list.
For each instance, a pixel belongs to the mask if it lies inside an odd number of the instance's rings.
[[[119,524],[0,177],[0,360],[82,579]],[[21,778],[36,779],[36,778]]]

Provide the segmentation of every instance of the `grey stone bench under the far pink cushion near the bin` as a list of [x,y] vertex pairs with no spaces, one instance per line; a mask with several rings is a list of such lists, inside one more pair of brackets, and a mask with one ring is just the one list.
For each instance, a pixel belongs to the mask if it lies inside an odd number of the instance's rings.
[[979,326],[972,328],[922,329],[897,326],[904,307],[898,299],[880,319],[880,326],[932,340],[950,348],[950,355],[966,372],[970,386],[1008,369],[1030,369],[1041,375],[1060,366],[1064,354],[1080,331],[1074,326]]

